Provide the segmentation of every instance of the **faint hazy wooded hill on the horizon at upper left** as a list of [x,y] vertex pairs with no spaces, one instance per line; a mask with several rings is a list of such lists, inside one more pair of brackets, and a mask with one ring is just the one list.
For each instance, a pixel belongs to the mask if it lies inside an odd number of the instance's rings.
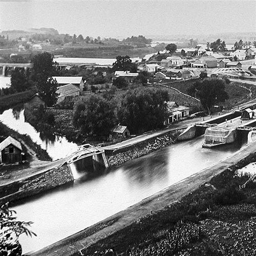
[[28,30],[6,30],[2,31],[1,35],[9,37],[9,39],[17,39],[19,37],[29,37],[33,34],[51,34],[58,35],[59,32],[53,28],[40,28],[40,29],[28,29]]

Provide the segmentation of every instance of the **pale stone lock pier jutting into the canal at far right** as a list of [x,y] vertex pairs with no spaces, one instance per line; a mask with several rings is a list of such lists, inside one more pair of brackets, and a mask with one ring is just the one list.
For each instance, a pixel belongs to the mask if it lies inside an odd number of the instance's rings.
[[203,147],[214,147],[222,144],[230,144],[236,140],[248,137],[248,133],[256,129],[256,118],[242,120],[237,117],[226,120],[213,127],[208,127],[204,134]]

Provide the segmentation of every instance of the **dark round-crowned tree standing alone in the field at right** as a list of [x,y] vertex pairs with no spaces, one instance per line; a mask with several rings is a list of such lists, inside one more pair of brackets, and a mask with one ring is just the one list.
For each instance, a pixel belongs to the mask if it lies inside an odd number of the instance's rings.
[[204,79],[193,84],[188,90],[190,95],[200,99],[201,104],[210,115],[212,106],[228,99],[225,91],[225,80],[218,78]]

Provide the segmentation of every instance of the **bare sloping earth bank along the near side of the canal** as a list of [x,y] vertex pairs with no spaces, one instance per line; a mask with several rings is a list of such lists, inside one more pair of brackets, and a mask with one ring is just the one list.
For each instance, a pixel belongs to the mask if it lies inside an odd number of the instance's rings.
[[[251,143],[240,151],[215,165],[202,169],[184,180],[177,182],[139,203],[118,212],[117,214],[98,222],[72,236],[57,243],[47,246],[31,255],[79,255],[78,250],[91,247],[97,243],[106,243],[118,232],[126,232],[134,223],[139,224],[139,219],[155,214],[164,207],[181,200],[212,177],[222,173],[227,168],[243,167],[255,160],[256,144]],[[104,239],[104,240],[103,240]],[[100,242],[102,241],[102,242]],[[84,252],[85,250],[83,250]]]

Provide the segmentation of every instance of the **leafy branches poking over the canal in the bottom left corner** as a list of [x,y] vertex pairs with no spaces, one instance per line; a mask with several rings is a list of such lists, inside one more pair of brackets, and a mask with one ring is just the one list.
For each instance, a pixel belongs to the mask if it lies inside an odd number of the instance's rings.
[[36,236],[29,229],[32,222],[17,221],[14,216],[16,212],[8,208],[8,204],[0,207],[0,255],[19,256],[22,255],[22,247],[18,242],[21,234]]

